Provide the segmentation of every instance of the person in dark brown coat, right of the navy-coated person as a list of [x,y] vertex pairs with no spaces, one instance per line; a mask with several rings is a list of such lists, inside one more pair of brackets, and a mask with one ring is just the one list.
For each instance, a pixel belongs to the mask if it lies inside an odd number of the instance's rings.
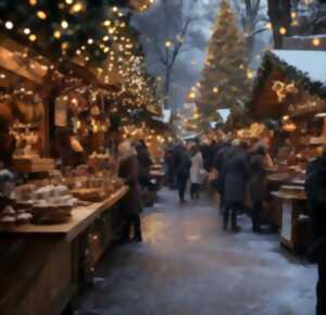
[[254,150],[249,161],[249,191],[253,203],[252,206],[252,231],[261,232],[261,212],[263,210],[263,201],[266,197],[266,152],[263,147]]

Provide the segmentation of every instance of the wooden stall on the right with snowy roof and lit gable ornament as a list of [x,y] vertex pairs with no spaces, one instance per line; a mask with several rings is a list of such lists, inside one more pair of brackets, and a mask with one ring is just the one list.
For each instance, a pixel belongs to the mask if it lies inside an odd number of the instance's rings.
[[263,59],[249,104],[252,117],[272,121],[275,167],[268,176],[269,217],[280,241],[293,250],[306,245],[305,168],[326,143],[326,52],[273,50]]

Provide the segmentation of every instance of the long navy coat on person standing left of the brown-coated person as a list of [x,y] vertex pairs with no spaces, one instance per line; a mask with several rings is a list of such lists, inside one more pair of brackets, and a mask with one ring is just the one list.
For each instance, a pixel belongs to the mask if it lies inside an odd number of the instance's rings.
[[243,203],[246,197],[247,161],[244,152],[229,148],[223,166],[223,191],[228,203]]

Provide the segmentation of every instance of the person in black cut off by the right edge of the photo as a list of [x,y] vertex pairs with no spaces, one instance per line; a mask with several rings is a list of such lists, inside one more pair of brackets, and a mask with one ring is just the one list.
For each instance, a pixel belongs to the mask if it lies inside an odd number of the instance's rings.
[[306,171],[305,191],[313,222],[310,254],[318,265],[316,315],[326,314],[326,144]]

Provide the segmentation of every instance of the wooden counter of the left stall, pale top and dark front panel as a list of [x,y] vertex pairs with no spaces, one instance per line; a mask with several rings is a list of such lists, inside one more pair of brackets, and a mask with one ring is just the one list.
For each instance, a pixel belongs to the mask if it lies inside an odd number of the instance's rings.
[[110,215],[108,210],[127,191],[123,187],[103,202],[76,207],[66,224],[25,225],[2,231],[0,314],[62,314],[78,292],[88,230],[93,229],[97,218]]

